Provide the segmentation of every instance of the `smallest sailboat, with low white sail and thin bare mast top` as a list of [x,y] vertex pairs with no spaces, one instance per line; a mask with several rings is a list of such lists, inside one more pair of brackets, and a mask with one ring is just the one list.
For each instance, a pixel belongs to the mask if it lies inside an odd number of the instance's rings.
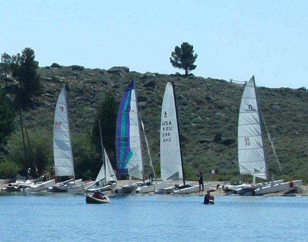
[[102,138],[102,130],[101,130],[101,122],[99,120],[99,127],[100,127],[100,136],[101,136],[101,146],[102,146],[102,155],[103,155],[103,165],[101,167],[100,172],[98,173],[94,184],[88,186],[86,188],[86,192],[93,193],[93,192],[102,192],[111,190],[116,187],[118,180],[115,176],[113,168],[111,166],[109,157],[105,148],[103,147],[103,138]]

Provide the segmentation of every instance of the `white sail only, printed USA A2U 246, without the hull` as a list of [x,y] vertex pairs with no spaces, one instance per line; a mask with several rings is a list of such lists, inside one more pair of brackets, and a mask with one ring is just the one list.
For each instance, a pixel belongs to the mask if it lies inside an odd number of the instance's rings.
[[160,136],[161,180],[183,180],[177,117],[171,82],[167,83],[165,89]]

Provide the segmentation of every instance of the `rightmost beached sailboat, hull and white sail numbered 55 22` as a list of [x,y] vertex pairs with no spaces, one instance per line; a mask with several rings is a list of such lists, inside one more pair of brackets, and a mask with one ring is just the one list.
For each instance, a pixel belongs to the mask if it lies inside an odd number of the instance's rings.
[[[240,195],[262,195],[290,188],[291,183],[284,182],[283,179],[269,181],[268,161],[264,149],[254,76],[246,83],[240,102],[238,162],[240,175],[251,175],[253,181],[252,184],[242,183],[240,185],[227,186],[232,193]],[[267,181],[256,185],[256,177]],[[302,180],[293,181],[293,185],[302,185]]]

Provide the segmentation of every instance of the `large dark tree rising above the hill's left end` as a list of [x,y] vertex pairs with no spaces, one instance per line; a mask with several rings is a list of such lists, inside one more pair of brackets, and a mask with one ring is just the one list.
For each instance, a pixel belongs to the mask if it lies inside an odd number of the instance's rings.
[[13,76],[16,76],[19,85],[19,102],[29,103],[31,97],[38,94],[41,89],[39,75],[36,73],[38,62],[34,60],[34,50],[25,48],[22,54],[12,56],[11,69]]

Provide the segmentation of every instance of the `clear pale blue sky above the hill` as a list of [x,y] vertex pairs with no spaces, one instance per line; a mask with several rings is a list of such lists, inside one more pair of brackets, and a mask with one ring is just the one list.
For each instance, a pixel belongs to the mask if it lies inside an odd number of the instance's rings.
[[40,67],[184,73],[169,58],[189,42],[197,76],[308,87],[307,0],[2,0],[0,10],[0,53],[31,47]]

